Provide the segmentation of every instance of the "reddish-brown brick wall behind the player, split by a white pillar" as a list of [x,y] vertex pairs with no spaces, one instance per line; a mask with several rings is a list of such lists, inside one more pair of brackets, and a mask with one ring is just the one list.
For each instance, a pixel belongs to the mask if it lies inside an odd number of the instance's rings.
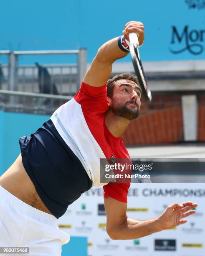
[[[142,100],[139,118],[123,134],[124,143],[132,145],[183,141],[181,96],[185,93],[154,93],[147,104]],[[198,95],[198,140],[205,141],[205,93]]]

